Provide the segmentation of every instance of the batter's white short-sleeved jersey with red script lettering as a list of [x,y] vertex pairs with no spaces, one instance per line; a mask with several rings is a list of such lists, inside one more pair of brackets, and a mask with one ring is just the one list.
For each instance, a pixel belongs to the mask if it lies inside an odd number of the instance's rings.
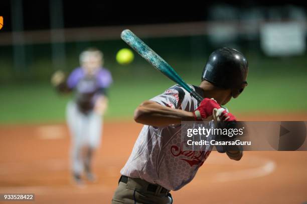
[[[190,86],[195,90],[194,86]],[[150,100],[186,111],[194,111],[198,105],[197,100],[179,85],[170,87]],[[183,150],[181,124],[165,127],[144,125],[120,173],[157,183],[169,190],[178,190],[194,178],[212,146],[203,146],[201,149]]]

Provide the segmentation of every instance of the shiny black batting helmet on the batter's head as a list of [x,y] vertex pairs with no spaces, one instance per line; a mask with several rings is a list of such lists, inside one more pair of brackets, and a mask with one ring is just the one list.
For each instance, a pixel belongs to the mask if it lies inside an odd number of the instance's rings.
[[203,70],[202,80],[217,87],[230,88],[236,98],[247,85],[248,61],[236,49],[223,47],[213,51]]

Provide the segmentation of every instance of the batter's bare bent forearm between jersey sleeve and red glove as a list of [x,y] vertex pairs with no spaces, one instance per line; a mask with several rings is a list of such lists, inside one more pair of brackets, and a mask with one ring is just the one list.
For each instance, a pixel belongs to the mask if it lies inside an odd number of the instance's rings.
[[166,107],[155,101],[144,101],[134,111],[134,120],[152,126],[165,126],[195,119],[192,112]]

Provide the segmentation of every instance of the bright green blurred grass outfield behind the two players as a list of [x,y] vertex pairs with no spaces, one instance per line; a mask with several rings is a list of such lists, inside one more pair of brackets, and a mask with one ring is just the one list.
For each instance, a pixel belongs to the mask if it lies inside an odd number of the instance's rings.
[[[233,113],[307,112],[307,82],[304,74],[293,77],[252,76],[245,91],[226,106]],[[198,84],[198,79],[187,79]],[[162,93],[173,82],[160,78],[114,79],[109,89],[106,119],[131,118],[143,100]],[[35,123],[63,121],[65,105],[73,94],[59,95],[49,83],[3,85],[0,91],[1,123]]]

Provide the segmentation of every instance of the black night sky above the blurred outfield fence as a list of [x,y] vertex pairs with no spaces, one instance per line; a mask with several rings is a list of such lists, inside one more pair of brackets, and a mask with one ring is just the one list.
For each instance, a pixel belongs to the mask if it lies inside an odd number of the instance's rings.
[[[51,0],[53,3],[56,0]],[[229,1],[228,1],[229,2]],[[0,15],[5,17],[3,30],[12,30],[11,9],[14,2],[2,0]],[[24,29],[48,29],[50,28],[50,2],[48,0],[24,0]],[[63,0],[64,27],[88,27],[103,25],[128,25],[150,24],[165,22],[188,22],[210,19],[209,13],[216,4],[228,4],[223,0],[195,1],[187,3],[162,2],[136,2],[115,1],[103,2],[101,0],[71,1]],[[300,0],[278,1],[278,6],[297,5],[306,8],[306,3]],[[242,11],[246,8],[263,7],[268,10],[276,7],[274,1],[240,0],[231,2],[231,6],[238,7]],[[287,11],[284,10],[286,13]]]

